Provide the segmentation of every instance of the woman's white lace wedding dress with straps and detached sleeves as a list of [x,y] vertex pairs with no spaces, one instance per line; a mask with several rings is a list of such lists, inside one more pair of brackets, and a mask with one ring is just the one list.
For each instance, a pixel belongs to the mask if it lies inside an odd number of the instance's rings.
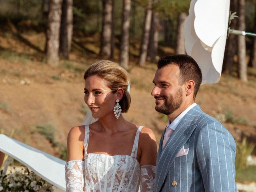
[[154,192],[155,166],[140,166],[137,158],[140,126],[136,132],[132,154],[110,156],[87,154],[89,126],[85,126],[84,161],[66,163],[67,192]]

